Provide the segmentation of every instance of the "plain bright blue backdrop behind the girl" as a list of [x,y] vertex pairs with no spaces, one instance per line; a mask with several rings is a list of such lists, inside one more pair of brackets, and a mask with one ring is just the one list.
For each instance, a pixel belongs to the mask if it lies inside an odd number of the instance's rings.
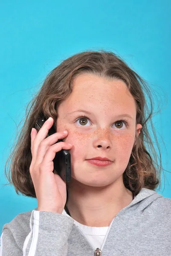
[[[87,49],[119,54],[158,93],[154,126],[163,167],[171,171],[171,1],[1,1],[0,7],[0,230],[37,207],[6,183],[4,165],[32,94],[60,61]],[[21,126],[20,126],[21,128]],[[165,146],[163,144],[165,141]],[[171,198],[165,172],[159,194]]]

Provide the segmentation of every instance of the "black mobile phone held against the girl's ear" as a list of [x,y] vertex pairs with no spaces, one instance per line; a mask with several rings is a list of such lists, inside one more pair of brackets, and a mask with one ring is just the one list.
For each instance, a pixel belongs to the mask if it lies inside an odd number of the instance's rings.
[[[46,122],[46,118],[44,116],[40,116],[35,124],[35,129],[37,132],[41,129],[42,125]],[[50,135],[56,133],[55,128],[52,126],[49,129],[49,132],[46,136],[49,137]],[[56,143],[63,141],[58,140]],[[71,180],[71,155],[68,150],[62,149],[55,154],[55,158],[53,159],[54,164],[54,171],[58,173],[58,175],[65,181],[69,182]]]

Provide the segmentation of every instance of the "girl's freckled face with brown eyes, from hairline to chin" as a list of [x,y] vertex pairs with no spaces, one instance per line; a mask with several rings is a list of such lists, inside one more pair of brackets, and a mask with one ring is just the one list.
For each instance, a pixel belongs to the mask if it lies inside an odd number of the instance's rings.
[[[135,134],[139,135],[141,128],[136,125],[135,100],[123,81],[78,75],[72,93],[58,107],[57,118],[57,131],[67,130],[64,141],[73,145],[72,180],[97,187],[123,182]],[[113,162],[104,167],[87,162],[98,156]]]

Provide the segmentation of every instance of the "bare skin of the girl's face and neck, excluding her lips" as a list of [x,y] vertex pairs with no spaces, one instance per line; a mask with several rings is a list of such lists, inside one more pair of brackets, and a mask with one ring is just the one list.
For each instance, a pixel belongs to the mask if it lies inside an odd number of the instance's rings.
[[[72,111],[83,109],[92,114]],[[129,127],[120,122],[125,117]],[[75,122],[79,116],[88,117]],[[81,122],[84,120],[84,123]],[[130,154],[139,135],[136,125],[136,103],[121,80],[109,80],[92,74],[78,75],[73,90],[58,108],[57,131],[68,131],[64,139],[73,146],[71,154],[71,181],[68,183],[68,209],[73,219],[90,227],[108,227],[117,213],[133,200],[126,189],[122,175],[128,166]],[[109,166],[88,163],[92,157],[107,157]]]

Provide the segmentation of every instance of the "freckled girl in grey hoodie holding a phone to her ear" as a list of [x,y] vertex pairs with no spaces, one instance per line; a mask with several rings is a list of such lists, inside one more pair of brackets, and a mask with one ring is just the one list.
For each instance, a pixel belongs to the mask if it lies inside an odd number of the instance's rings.
[[[52,70],[7,175],[38,207],[3,226],[0,255],[171,255],[171,199],[155,191],[161,166],[147,128],[152,107],[145,80],[113,52],[81,52]],[[47,121],[37,132],[41,113]],[[68,183],[53,172],[61,149],[71,154]]]

